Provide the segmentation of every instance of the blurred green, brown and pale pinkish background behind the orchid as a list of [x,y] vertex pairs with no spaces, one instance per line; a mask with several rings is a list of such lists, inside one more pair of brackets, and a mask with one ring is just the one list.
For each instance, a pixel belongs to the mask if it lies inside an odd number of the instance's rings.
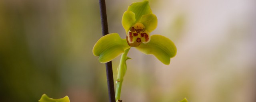
[[[106,0],[110,33],[132,2]],[[170,38],[164,65],[132,48],[124,102],[256,102],[255,0],[149,0],[151,34]],[[102,36],[98,0],[0,0],[1,102],[108,102],[105,65],[92,54]],[[113,60],[114,80],[120,57]]]

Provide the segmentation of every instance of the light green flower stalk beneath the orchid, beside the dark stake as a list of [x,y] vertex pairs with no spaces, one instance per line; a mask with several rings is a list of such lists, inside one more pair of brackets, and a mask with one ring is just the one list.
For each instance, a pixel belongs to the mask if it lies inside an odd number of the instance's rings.
[[121,95],[121,88],[122,88],[122,83],[124,80],[124,74],[126,72],[126,59],[127,59],[127,54],[129,52],[129,49],[126,49],[124,53],[121,56],[120,63],[118,66],[118,74],[117,74],[117,79],[116,79],[116,102],[119,102],[120,100],[120,95]]

